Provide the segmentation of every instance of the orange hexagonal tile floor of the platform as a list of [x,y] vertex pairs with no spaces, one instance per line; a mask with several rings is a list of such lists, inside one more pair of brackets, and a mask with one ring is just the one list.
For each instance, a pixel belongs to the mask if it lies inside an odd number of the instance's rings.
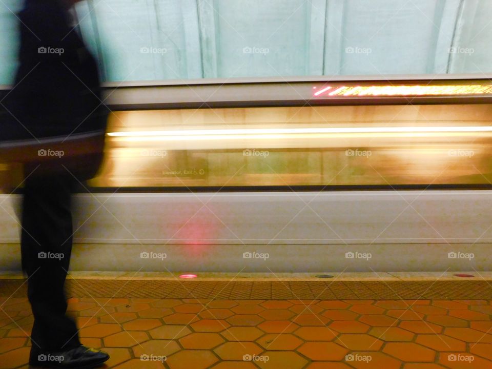
[[[0,297],[0,368],[27,368],[29,303]],[[69,300],[104,367],[492,367],[490,300]],[[141,360],[149,358],[149,360]]]

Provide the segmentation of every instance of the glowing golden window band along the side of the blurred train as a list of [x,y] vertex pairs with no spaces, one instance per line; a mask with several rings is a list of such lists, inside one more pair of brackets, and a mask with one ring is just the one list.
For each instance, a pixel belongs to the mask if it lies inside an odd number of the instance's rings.
[[492,181],[492,106],[115,112],[94,187]]

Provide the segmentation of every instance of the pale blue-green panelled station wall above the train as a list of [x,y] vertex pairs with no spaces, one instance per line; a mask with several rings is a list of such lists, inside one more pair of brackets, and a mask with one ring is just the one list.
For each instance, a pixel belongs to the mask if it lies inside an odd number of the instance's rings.
[[[0,1],[0,84],[13,81],[21,4]],[[76,10],[108,81],[492,73],[490,0],[86,0]]]

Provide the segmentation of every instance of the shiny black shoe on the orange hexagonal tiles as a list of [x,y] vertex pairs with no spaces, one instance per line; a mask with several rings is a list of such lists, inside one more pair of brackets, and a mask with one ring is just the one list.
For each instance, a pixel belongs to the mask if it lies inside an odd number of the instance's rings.
[[61,352],[31,351],[29,365],[55,369],[91,369],[108,359],[108,353],[80,345],[72,350]]

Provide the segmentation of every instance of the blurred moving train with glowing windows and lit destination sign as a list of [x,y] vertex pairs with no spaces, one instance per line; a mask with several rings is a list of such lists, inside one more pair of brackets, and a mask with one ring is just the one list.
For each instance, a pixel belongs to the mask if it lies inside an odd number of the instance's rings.
[[[106,85],[72,270],[488,270],[492,82],[425,78]],[[20,192],[0,270],[20,269]]]

